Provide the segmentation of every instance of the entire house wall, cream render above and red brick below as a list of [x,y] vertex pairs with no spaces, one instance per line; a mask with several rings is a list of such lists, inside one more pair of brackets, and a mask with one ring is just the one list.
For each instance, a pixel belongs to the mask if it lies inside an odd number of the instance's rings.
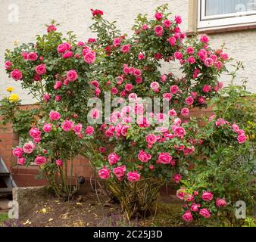
[[[108,20],[116,20],[117,26],[123,33],[131,34],[133,20],[139,13],[148,14],[153,17],[154,10],[158,5],[169,4],[173,15],[179,14],[183,17],[181,28],[186,33],[196,30],[196,5],[198,0],[1,0],[1,36],[0,36],[0,98],[7,95],[5,89],[8,86],[15,88],[14,92],[22,99],[23,108],[27,104],[33,104],[33,99],[27,92],[21,89],[20,82],[14,82],[9,79],[4,70],[4,53],[6,48],[13,48],[14,41],[18,43],[34,42],[37,33],[45,33],[45,23],[55,19],[61,26],[61,31],[67,32],[73,30],[78,39],[84,41],[93,37],[89,26],[91,20],[91,8],[98,8],[104,11],[104,16]],[[232,30],[232,31],[230,31]],[[206,32],[211,37],[211,45],[214,48],[220,47],[225,43],[229,55],[234,58],[232,65],[236,60],[242,60],[245,70],[241,70],[237,83],[244,78],[248,78],[248,91],[256,91],[256,29],[251,26],[235,27],[231,29],[214,30]],[[164,73],[177,73],[178,69],[173,65],[165,65]],[[220,80],[225,84],[229,83],[230,77],[223,75]],[[211,115],[211,109],[192,110],[192,116],[199,116],[201,113]],[[201,125],[203,125],[201,123]],[[8,168],[11,169],[17,185],[42,185],[44,181],[36,180],[38,168],[31,166],[26,169],[22,166],[15,166],[16,160],[11,155],[12,147],[18,144],[18,137],[12,132],[11,126],[5,132],[0,131],[0,157],[5,160]],[[75,160],[74,173],[83,175],[86,178],[91,177],[92,172],[89,163],[82,157]]]

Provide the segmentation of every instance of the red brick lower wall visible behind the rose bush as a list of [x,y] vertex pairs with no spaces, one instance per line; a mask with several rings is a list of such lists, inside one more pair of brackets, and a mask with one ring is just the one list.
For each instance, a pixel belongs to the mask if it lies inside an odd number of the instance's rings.
[[[30,108],[31,106],[23,106],[22,108]],[[211,116],[213,114],[211,108],[199,109],[195,107],[190,110],[191,116],[201,115]],[[200,126],[204,126],[203,122],[199,123]],[[23,167],[16,165],[16,158],[12,155],[12,147],[18,145],[18,136],[11,128],[11,125],[6,127],[7,129],[0,130],[0,157],[5,161],[8,169],[11,169],[11,174],[14,177],[14,181],[17,186],[40,186],[45,185],[44,180],[39,180],[36,175],[39,174],[39,168],[37,166]],[[73,161],[73,175],[83,176],[85,178],[91,178],[92,169],[89,165],[88,160],[84,157],[78,156]]]

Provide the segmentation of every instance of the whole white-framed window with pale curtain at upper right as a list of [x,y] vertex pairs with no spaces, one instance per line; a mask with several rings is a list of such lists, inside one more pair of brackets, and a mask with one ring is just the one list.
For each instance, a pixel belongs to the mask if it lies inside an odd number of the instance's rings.
[[256,0],[198,0],[198,29],[256,23]]

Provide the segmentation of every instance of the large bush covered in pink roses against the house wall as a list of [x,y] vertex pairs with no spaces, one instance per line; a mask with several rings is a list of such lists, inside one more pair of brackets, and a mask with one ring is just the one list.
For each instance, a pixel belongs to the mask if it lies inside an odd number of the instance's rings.
[[[218,160],[229,144],[246,147],[247,137],[221,116],[201,129],[190,110],[217,97],[228,54],[211,48],[208,36],[186,39],[182,18],[170,17],[167,5],[150,20],[139,14],[130,37],[103,15],[92,10],[95,39],[64,37],[52,23],[36,44],[6,52],[7,73],[42,110],[22,147],[14,148],[17,163],[38,164],[56,194],[70,194],[67,166],[82,154],[130,217],[152,212],[170,182],[182,184],[177,194],[186,201],[186,222],[211,217],[232,200],[228,190],[210,186],[210,178],[197,187],[192,178],[211,170],[205,157]],[[164,65],[178,66],[180,74],[161,72]]]

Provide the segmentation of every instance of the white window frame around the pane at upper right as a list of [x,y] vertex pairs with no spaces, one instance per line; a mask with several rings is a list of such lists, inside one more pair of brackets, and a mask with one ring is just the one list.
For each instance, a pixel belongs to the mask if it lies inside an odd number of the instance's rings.
[[198,29],[216,29],[227,26],[247,26],[256,23],[256,11],[233,14],[205,15],[206,0],[198,0]]

